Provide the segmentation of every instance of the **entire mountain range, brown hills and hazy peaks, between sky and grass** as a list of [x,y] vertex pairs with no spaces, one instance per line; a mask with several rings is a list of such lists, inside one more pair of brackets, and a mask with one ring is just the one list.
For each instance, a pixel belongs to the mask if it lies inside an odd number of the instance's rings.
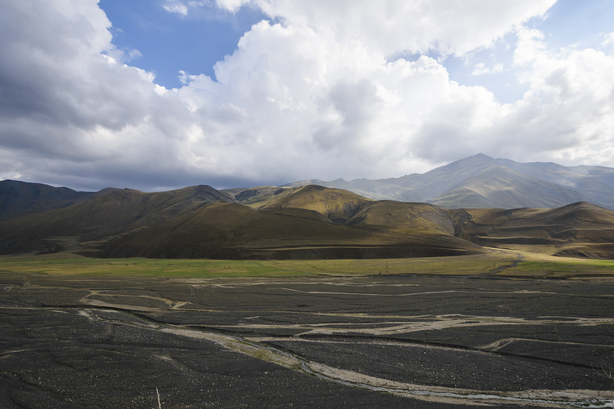
[[614,259],[611,168],[480,154],[425,174],[312,182],[144,193],[4,180],[0,254],[383,258],[494,247]]

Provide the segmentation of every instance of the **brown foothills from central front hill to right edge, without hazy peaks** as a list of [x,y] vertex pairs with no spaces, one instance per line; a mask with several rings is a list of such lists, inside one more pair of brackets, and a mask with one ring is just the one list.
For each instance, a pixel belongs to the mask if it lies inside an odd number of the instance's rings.
[[357,201],[359,197],[349,192],[340,197],[342,192],[309,185],[260,210],[214,202],[103,243],[99,254],[398,258],[477,254],[494,247],[614,259],[614,212],[588,202],[554,209],[449,209],[425,203]]

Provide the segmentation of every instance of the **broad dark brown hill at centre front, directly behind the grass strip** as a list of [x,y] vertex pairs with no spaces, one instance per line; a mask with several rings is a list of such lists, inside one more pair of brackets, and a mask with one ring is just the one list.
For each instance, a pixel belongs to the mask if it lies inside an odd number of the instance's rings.
[[424,229],[348,226],[216,202],[126,235],[104,256],[157,258],[394,258],[481,253],[465,240]]

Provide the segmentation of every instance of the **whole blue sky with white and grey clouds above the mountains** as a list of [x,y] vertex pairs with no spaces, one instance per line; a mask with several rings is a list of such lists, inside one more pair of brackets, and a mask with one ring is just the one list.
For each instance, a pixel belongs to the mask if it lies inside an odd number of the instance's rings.
[[611,0],[5,0],[0,180],[95,191],[614,167]]

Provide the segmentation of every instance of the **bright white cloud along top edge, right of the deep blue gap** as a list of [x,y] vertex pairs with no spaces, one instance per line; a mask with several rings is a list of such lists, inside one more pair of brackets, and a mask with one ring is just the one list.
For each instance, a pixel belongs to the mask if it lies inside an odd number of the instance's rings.
[[[287,25],[329,31],[341,42],[359,40],[386,56],[428,50],[463,55],[490,47],[529,18],[544,16],[554,2],[215,0],[217,7],[231,12],[249,4]],[[209,5],[208,1],[190,2],[192,7]]]

